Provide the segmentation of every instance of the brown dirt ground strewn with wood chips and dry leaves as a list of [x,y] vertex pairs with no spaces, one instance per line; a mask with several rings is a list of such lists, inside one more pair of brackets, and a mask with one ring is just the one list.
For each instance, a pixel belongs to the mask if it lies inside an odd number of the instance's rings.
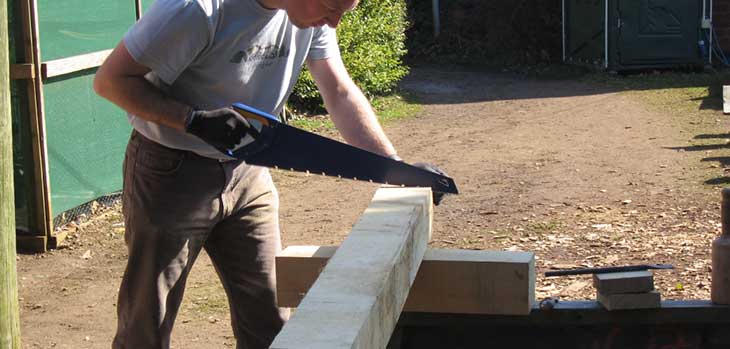
[[[435,209],[430,246],[534,251],[538,299],[595,298],[589,277],[546,279],[547,270],[638,263],[675,265],[655,273],[664,299],[709,299],[727,121],[706,90],[610,86],[414,69],[402,89],[423,107],[386,132],[406,161],[439,164],[461,191]],[[285,246],[340,243],[377,188],[280,171],[275,179]],[[119,212],[100,208],[67,227],[64,248],[19,256],[24,348],[109,347],[126,258]],[[203,255],[173,347],[235,347],[229,321]]]

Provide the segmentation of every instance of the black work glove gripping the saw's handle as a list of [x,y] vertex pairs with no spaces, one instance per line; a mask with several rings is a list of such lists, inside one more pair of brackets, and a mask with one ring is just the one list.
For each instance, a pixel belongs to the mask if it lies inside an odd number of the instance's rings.
[[228,154],[252,128],[235,110],[221,108],[194,110],[188,117],[185,131]]

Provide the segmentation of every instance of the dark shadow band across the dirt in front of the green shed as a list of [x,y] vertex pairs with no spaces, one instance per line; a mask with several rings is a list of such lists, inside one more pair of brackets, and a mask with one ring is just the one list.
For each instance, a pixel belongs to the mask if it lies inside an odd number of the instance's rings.
[[[474,75],[483,76],[474,79]],[[559,82],[559,83],[558,83]],[[477,103],[608,94],[627,90],[705,88],[699,109],[722,109],[722,85],[730,83],[730,70],[650,70],[611,74],[568,65],[551,65],[530,71],[479,67],[416,66],[400,83],[408,98],[430,104]],[[534,88],[510,88],[532,84]]]

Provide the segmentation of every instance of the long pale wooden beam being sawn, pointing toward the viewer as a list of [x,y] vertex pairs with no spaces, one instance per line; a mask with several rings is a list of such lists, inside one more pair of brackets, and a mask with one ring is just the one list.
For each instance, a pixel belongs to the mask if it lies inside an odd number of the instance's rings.
[[271,348],[385,348],[431,237],[429,188],[381,188]]

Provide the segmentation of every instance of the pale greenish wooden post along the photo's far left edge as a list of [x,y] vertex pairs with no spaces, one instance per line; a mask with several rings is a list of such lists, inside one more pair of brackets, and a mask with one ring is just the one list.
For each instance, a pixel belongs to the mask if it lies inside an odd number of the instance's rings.
[[8,34],[8,1],[0,0],[0,348],[19,349]]

